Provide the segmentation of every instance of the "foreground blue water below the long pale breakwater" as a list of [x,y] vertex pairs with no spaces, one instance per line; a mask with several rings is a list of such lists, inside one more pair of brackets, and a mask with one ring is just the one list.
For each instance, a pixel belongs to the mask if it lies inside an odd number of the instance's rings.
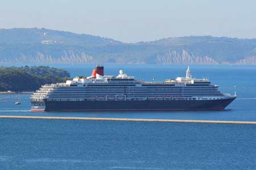
[[256,126],[0,119],[0,169],[256,169]]

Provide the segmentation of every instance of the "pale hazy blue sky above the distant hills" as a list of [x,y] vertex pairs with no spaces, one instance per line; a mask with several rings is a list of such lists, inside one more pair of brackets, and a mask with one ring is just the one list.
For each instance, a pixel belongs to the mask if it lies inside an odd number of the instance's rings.
[[0,0],[0,28],[38,27],[123,42],[212,35],[256,38],[256,1]]

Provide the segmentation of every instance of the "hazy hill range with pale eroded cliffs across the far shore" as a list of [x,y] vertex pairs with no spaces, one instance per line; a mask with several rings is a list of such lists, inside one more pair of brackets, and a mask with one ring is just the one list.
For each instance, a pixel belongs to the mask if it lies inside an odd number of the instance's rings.
[[123,43],[51,29],[0,29],[0,63],[256,64],[256,39],[189,36]]

